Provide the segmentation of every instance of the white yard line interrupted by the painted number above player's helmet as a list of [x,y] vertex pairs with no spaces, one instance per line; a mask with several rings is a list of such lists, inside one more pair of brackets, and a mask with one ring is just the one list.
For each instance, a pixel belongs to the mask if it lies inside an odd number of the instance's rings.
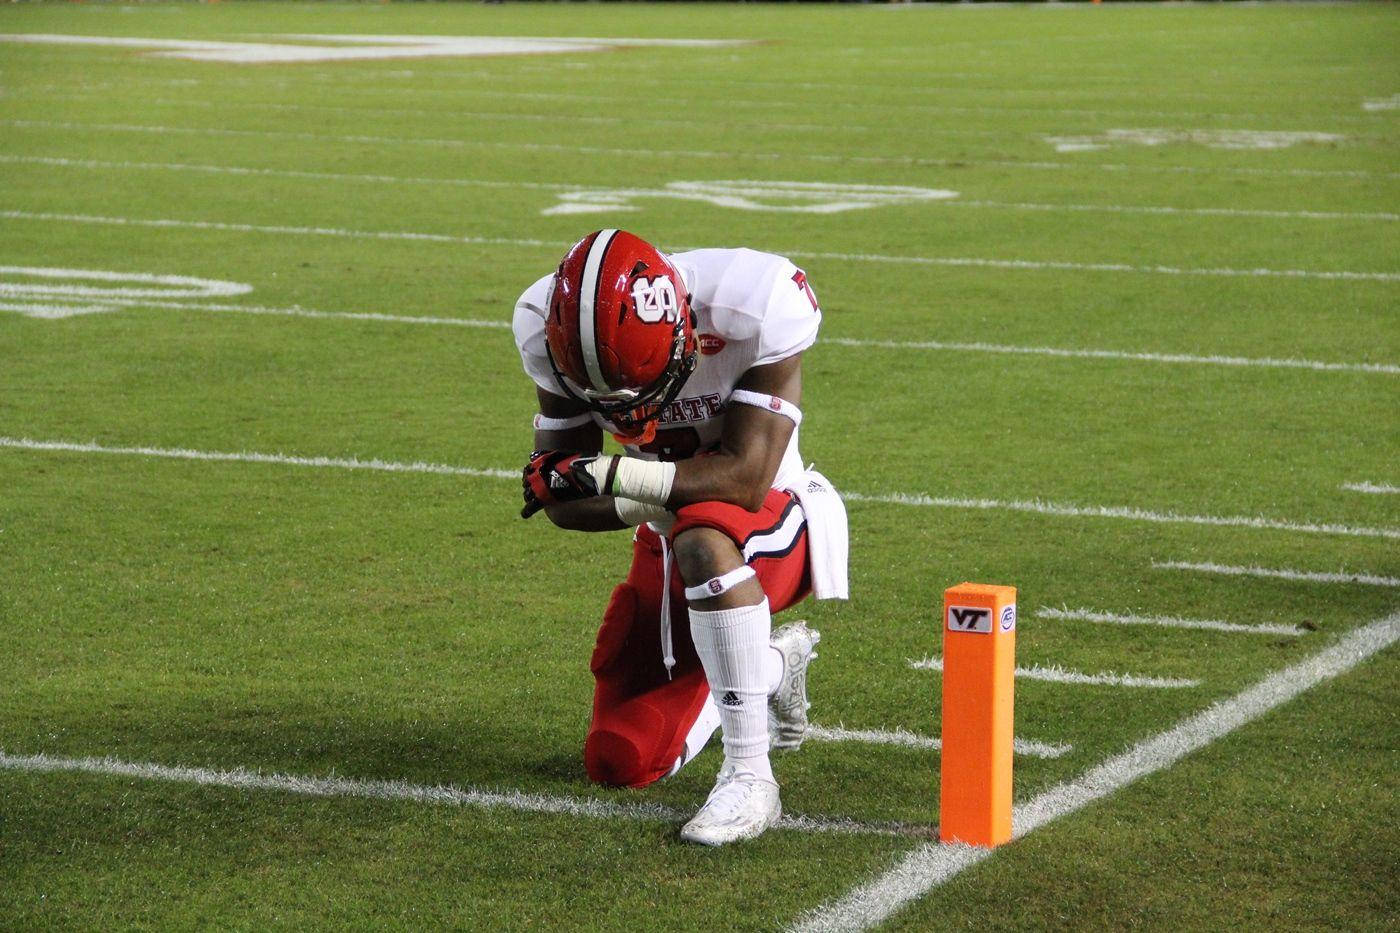
[[[507,115],[507,116],[515,116],[515,115]],[[553,118],[542,118],[542,119],[553,119]],[[588,118],[588,119],[610,119],[610,118]],[[626,120],[619,118],[617,122],[626,122]],[[678,122],[685,122],[687,126],[692,125],[689,120],[678,120]],[[827,130],[830,127],[820,126],[816,129]],[[517,182],[517,181],[490,181],[477,178],[423,178],[413,175],[370,175],[370,174],[354,174],[354,172],[311,172],[311,171],[283,170],[283,168],[246,168],[241,165],[211,165],[211,164],[195,164],[195,163],[105,161],[98,158],[63,158],[56,156],[0,154],[0,163],[24,164],[24,165],[52,165],[62,168],[188,171],[188,172],[209,172],[216,175],[304,178],[316,181],[356,181],[356,182],[391,184],[391,185],[445,185],[445,186],[459,186],[459,188],[494,188],[494,189],[518,188],[525,191],[550,191],[550,192],[613,191],[610,188],[567,185],[560,182]],[[956,198],[932,199],[927,203],[944,205],[951,207],[988,207],[1000,210],[1103,212],[1103,213],[1126,213],[1126,214],[1190,214],[1203,217],[1267,217],[1280,220],[1289,220],[1289,219],[1385,220],[1385,221],[1400,220],[1400,214],[1389,212],[1254,210],[1245,207],[1170,207],[1170,206],[1154,206],[1154,205],[1047,205],[1047,203],[1000,202],[1000,200],[962,200]]]

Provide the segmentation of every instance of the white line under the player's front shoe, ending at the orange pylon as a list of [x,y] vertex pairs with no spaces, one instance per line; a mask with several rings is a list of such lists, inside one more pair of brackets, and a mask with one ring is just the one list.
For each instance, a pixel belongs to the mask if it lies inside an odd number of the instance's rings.
[[[477,790],[451,785],[412,785],[405,780],[364,780],[354,778],[308,778],[301,775],[265,775],[245,768],[214,770],[210,768],[182,768],[151,762],[132,762],[119,758],[57,758],[49,755],[10,755],[0,751],[0,769],[36,773],[81,773],[141,780],[168,780],[206,787],[237,787],[239,790],[272,790],[307,797],[363,797],[368,800],[405,800],[410,803],[482,810],[515,810],[519,813],[561,814],[595,820],[645,820],[678,822],[689,817],[671,807],[647,803],[610,803],[589,797],[557,797],[524,790]],[[799,832],[848,832],[871,835],[917,835],[927,832],[907,824],[865,824],[855,820],[825,820],[790,815],[778,824]]]

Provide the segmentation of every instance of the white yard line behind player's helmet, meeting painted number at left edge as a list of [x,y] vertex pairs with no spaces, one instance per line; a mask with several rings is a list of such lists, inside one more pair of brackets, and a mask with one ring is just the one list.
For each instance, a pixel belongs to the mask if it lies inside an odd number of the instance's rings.
[[[0,286],[3,287],[3,286]],[[200,304],[195,301],[154,301],[154,300],[125,300],[125,298],[102,298],[104,307],[90,307],[90,311],[111,311],[113,308],[105,305],[122,305],[133,308],[175,308],[186,311],[228,311],[241,314],[267,314],[267,315],[290,315],[298,318],[326,318],[326,319],[349,319],[349,321],[385,321],[389,324],[428,324],[428,325],[447,325],[459,328],[510,328],[510,321],[493,321],[483,318],[442,318],[431,315],[403,315],[403,314],[381,314],[372,311],[316,311],[314,308],[302,308],[301,305],[291,305],[287,308],[273,308],[266,305],[248,305],[248,304]],[[36,307],[36,305],[35,305]],[[0,304],[0,310],[10,310],[11,305]],[[14,310],[32,310],[31,305],[24,305],[20,308],[14,305]],[[1142,363],[1175,363],[1175,364],[1200,364],[1200,366],[1239,366],[1239,367],[1261,367],[1261,368],[1299,368],[1299,370],[1313,370],[1319,373],[1376,373],[1382,375],[1400,375],[1400,366],[1393,363],[1324,363],[1320,360],[1291,360],[1291,359],[1270,359],[1270,357],[1242,357],[1242,356],[1190,356],[1186,353],[1134,353],[1128,350],[1093,350],[1093,349],[1063,349],[1063,347],[1043,347],[1043,346],[1008,346],[1000,343],[958,343],[946,340],[862,340],[853,338],[825,338],[823,343],[833,346],[850,346],[850,347],[881,347],[892,350],[953,350],[959,353],[1012,353],[1022,356],[1050,356],[1050,357],[1065,357],[1065,359],[1095,359],[1095,360],[1127,360],[1127,361],[1142,361]],[[1369,483],[1362,483],[1369,486]],[[1347,488],[1347,486],[1344,486]],[[1358,492],[1400,492],[1396,488],[1368,488],[1358,489]]]

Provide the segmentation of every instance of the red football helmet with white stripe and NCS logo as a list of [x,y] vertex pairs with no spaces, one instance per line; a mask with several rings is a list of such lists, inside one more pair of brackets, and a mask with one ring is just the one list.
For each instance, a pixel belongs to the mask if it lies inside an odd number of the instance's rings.
[[566,395],[608,417],[623,443],[647,443],[696,366],[686,283],[645,240],[591,233],[554,273],[545,346]]

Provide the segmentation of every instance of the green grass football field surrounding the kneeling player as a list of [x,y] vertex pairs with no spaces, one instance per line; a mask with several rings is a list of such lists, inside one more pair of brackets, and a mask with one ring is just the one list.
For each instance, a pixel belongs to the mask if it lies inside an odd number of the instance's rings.
[[[0,41],[0,927],[1394,929],[1396,7],[15,4],[0,34],[743,41]],[[643,792],[582,772],[627,539],[521,521],[510,475],[512,303],[603,226],[785,254],[822,298],[802,445],[850,495],[853,600],[795,611],[816,723],[935,737],[941,591],[1016,586],[1018,664],[1098,681],[1018,682],[1025,828],[1371,647],[907,904],[858,891],[960,857],[930,748],[812,740],[785,811],[843,831],[682,845],[717,748]]]

